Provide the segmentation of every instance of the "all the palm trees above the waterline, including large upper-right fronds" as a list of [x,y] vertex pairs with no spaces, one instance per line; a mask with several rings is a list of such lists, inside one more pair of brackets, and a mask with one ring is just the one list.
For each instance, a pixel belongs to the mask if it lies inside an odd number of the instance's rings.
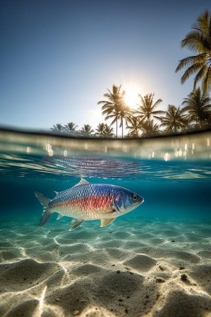
[[[125,137],[155,136],[166,133],[188,132],[192,130],[211,128],[211,99],[208,92],[211,89],[211,13],[207,10],[199,16],[191,31],[181,42],[182,48],[190,49],[193,56],[179,61],[176,72],[185,68],[181,77],[181,84],[193,74],[193,90],[184,98],[181,106],[167,105],[167,110],[159,110],[162,99],[153,101],[154,94],[145,96],[138,94],[140,104],[137,109],[130,108],[125,103],[125,91],[121,85],[113,85],[104,94],[106,100],[101,100],[102,115],[110,125],[99,123],[95,131],[89,124],[80,130],[73,123],[64,127],[56,124],[52,130],[69,133],[74,136],[117,137],[118,128],[121,128],[123,138],[123,123],[128,134]],[[198,85],[198,87],[197,87]],[[113,125],[115,124],[115,134]]]

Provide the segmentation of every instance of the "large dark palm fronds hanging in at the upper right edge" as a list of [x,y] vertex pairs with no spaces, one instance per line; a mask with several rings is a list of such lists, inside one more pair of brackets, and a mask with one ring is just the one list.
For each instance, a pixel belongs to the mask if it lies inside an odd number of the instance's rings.
[[202,81],[203,92],[207,93],[211,88],[211,13],[206,10],[192,29],[181,42],[181,46],[189,48],[197,55],[181,59],[176,72],[187,67],[181,77],[181,84],[196,73],[193,89]]

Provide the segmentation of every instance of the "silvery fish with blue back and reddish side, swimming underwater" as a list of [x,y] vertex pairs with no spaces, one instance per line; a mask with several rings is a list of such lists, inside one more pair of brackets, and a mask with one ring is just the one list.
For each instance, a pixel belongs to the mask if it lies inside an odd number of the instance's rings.
[[43,226],[54,212],[57,220],[72,217],[69,231],[79,227],[83,221],[100,220],[100,227],[107,226],[117,217],[122,216],[144,202],[139,194],[121,186],[110,184],[92,184],[81,178],[73,187],[57,192],[50,200],[40,192],[34,191],[43,213],[39,225]]

